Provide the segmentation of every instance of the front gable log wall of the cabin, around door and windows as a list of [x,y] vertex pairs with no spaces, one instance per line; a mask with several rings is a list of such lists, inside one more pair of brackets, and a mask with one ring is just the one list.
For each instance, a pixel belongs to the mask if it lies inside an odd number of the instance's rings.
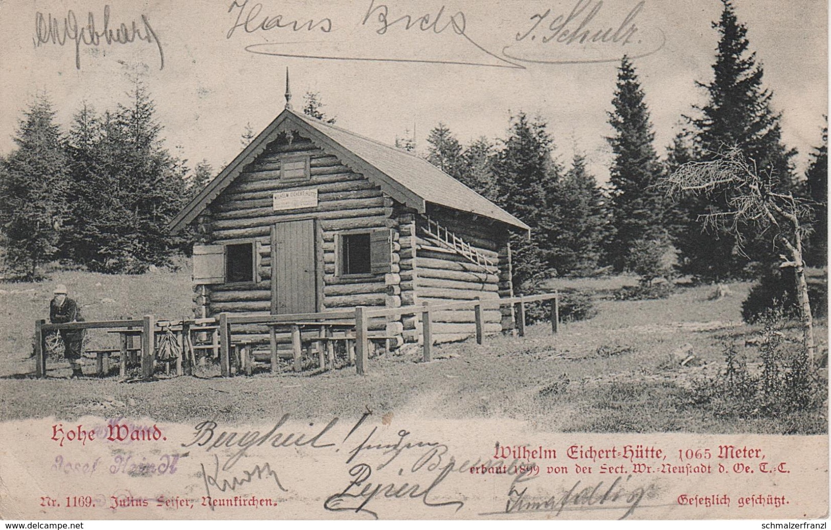
[[[286,182],[280,179],[280,159],[285,156],[308,156],[311,178]],[[317,189],[314,208],[274,212],[273,192]],[[397,221],[392,217],[394,202],[381,188],[360,173],[343,165],[337,157],[325,153],[308,139],[294,137],[292,143],[279,139],[240,173],[210,206],[210,213],[200,218],[200,233],[214,245],[234,241],[257,241],[259,246],[258,279],[251,284],[219,284],[197,292],[194,301],[208,316],[223,311],[242,314],[268,314],[271,309],[271,241],[275,222],[316,218],[321,227],[318,248],[318,309],[398,307],[401,305],[401,278],[398,274],[400,248]],[[394,255],[391,273],[342,278],[336,275],[336,240],[339,231],[391,228]],[[311,295],[315,295],[312,293]],[[198,299],[198,300],[197,300]],[[386,318],[370,323],[378,333],[401,334],[400,318]],[[234,333],[262,334],[263,327],[240,326]]]

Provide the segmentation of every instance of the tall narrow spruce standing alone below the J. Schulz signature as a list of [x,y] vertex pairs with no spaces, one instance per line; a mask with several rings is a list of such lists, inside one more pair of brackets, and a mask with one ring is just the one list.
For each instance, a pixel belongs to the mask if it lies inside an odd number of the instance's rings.
[[607,255],[616,270],[623,270],[634,242],[663,227],[663,201],[656,188],[661,163],[652,145],[655,134],[641,83],[627,56],[617,71],[612,106],[608,116],[615,134],[607,141],[614,153],[609,182],[615,236],[609,241]]

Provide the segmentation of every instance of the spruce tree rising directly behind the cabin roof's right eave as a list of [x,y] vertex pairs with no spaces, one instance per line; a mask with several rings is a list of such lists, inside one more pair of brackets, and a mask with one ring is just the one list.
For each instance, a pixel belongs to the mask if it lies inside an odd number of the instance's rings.
[[508,138],[492,165],[499,206],[531,227],[530,240],[512,235],[514,291],[528,294],[548,277],[546,248],[551,212],[546,191],[553,140],[542,119],[520,112],[511,118]]

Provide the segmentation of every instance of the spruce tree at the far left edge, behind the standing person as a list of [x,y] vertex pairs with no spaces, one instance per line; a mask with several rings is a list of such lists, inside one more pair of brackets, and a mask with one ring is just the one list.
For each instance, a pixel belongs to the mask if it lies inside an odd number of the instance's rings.
[[5,267],[37,279],[39,267],[57,257],[66,221],[66,153],[55,111],[45,95],[23,113],[14,142],[2,160],[0,238]]

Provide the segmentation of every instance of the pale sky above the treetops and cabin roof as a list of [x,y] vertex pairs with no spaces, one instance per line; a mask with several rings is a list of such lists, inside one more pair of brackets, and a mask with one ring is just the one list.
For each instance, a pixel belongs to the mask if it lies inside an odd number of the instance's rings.
[[[734,4],[802,172],[828,113],[827,3]],[[317,92],[337,125],[385,143],[415,131],[420,152],[439,122],[466,144],[504,138],[519,111],[538,115],[561,162],[585,153],[603,182],[620,57],[636,57],[663,153],[706,100],[696,81],[711,80],[720,10],[719,0],[0,0],[0,153],[37,94],[66,126],[83,102],[124,102],[138,75],[165,145],[219,171],[247,124],[259,132],[283,109],[288,67],[295,108]]]

